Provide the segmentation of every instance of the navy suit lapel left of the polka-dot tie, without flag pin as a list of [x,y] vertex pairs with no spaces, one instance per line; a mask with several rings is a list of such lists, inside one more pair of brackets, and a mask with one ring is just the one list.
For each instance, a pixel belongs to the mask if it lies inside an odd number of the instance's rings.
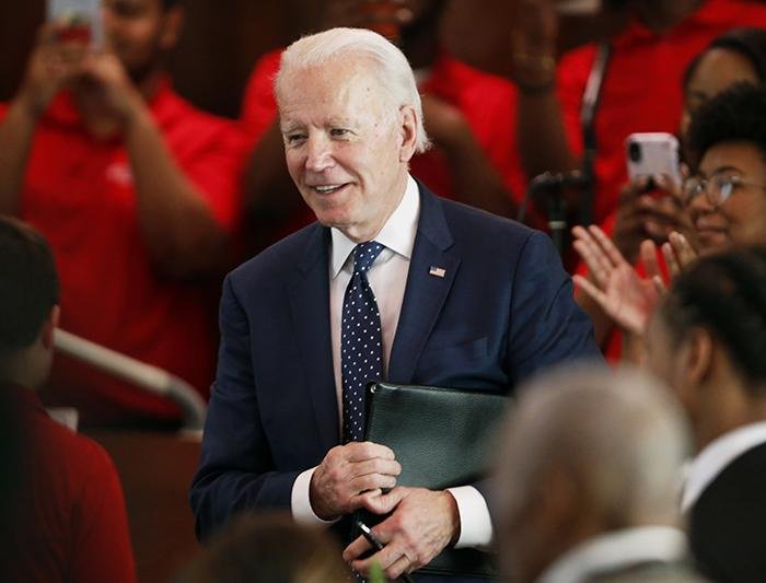
[[[337,445],[338,405],[329,328],[329,231],[320,224],[309,238],[288,288],[292,326],[305,368],[311,403],[324,451]],[[290,372],[288,371],[288,374]]]

